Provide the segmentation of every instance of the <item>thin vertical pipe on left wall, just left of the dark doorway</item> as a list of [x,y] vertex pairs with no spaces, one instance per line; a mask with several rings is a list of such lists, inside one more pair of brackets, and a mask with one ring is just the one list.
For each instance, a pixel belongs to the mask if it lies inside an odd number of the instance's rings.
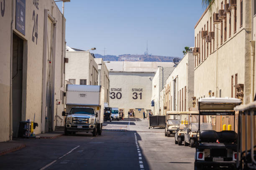
[[13,140],[13,16],[14,3],[12,0],[12,21],[11,21],[11,39],[10,39],[10,140]]

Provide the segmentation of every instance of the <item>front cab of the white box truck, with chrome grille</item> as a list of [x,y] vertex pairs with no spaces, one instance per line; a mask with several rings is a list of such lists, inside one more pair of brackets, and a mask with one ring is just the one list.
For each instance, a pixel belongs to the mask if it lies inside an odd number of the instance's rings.
[[76,132],[91,132],[97,135],[97,116],[92,107],[72,107],[70,112],[62,113],[65,118],[65,135]]

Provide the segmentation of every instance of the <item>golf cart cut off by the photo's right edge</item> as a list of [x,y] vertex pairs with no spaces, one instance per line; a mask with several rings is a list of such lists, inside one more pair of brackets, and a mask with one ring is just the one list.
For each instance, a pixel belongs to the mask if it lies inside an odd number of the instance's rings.
[[256,170],[256,101],[237,106],[234,110],[239,111],[237,168]]

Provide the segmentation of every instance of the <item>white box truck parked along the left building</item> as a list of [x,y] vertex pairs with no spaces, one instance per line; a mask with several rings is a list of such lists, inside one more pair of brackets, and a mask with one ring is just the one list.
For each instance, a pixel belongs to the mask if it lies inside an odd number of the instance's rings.
[[101,135],[104,109],[104,88],[99,85],[67,85],[65,135],[91,132]]

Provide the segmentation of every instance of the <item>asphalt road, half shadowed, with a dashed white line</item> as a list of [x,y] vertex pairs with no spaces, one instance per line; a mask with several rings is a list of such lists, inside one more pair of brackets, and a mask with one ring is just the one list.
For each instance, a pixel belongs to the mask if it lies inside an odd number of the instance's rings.
[[17,139],[25,148],[0,156],[2,170],[192,170],[195,148],[178,146],[148,120],[104,122],[101,136],[90,133],[55,139]]

